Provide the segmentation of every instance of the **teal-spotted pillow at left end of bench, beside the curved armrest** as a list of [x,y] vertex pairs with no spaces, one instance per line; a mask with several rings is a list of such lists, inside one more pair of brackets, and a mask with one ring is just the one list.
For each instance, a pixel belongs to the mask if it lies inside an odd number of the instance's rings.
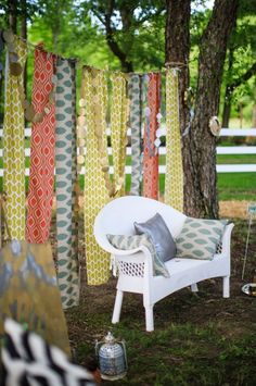
[[125,236],[125,235],[106,235],[108,241],[113,247],[123,250],[131,250],[141,246],[146,247],[153,259],[153,275],[169,277],[169,273],[165,266],[165,263],[158,258],[154,244],[148,234]]

